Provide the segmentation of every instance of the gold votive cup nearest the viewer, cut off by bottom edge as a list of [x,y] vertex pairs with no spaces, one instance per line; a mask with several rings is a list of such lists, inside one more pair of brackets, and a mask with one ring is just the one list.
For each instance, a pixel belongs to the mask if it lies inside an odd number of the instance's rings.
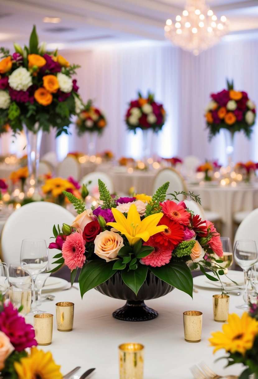
[[131,342],[118,349],[120,379],[143,379],[144,346]]

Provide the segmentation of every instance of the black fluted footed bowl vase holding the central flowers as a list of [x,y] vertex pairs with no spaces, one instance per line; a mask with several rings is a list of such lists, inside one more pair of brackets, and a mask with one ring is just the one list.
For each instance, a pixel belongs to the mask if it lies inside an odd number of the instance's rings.
[[144,301],[160,298],[171,292],[174,287],[148,272],[136,296],[131,288],[124,284],[120,273],[117,272],[95,289],[110,298],[126,300],[122,308],[113,312],[113,317],[123,321],[148,321],[156,318],[158,312],[147,307]]

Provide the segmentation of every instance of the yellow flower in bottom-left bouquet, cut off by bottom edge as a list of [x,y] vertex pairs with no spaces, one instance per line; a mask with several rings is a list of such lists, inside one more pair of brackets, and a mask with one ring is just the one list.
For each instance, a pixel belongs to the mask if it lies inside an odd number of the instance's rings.
[[61,379],[60,367],[54,362],[50,351],[44,352],[37,348],[31,348],[28,357],[14,362],[19,379]]

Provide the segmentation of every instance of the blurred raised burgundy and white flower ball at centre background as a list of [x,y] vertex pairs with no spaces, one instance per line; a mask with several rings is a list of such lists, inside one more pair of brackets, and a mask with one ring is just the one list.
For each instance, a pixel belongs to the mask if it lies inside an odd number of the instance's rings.
[[146,98],[143,98],[140,92],[138,92],[138,99],[130,102],[125,116],[127,128],[134,132],[136,128],[159,132],[165,119],[166,112],[163,105],[155,102],[154,94],[148,94]]

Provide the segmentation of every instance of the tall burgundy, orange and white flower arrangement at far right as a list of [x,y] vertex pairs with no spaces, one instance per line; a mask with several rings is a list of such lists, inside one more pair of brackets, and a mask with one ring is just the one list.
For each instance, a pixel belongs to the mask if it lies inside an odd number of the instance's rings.
[[235,91],[233,81],[227,81],[227,89],[211,94],[211,101],[206,107],[206,123],[209,139],[215,136],[221,128],[227,129],[233,135],[243,130],[249,138],[255,123],[256,107],[244,91]]

